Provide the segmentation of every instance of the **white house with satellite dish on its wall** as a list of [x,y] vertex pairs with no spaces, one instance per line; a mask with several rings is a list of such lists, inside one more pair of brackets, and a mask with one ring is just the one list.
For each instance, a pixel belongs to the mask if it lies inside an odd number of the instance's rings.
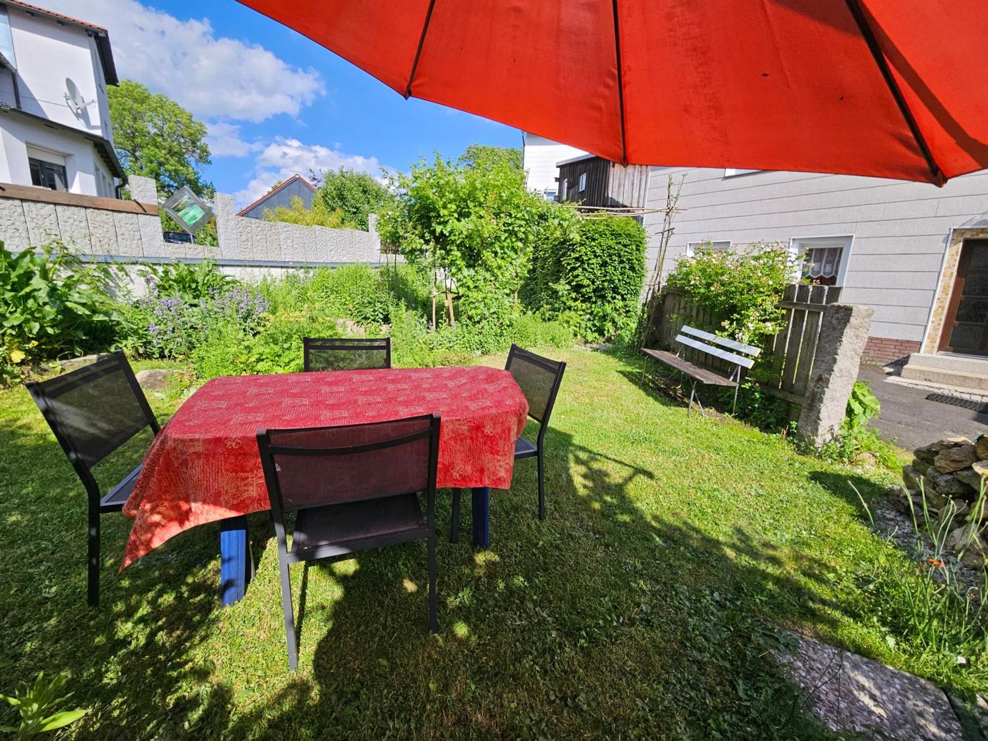
[[0,183],[115,198],[117,82],[106,29],[0,0]]

